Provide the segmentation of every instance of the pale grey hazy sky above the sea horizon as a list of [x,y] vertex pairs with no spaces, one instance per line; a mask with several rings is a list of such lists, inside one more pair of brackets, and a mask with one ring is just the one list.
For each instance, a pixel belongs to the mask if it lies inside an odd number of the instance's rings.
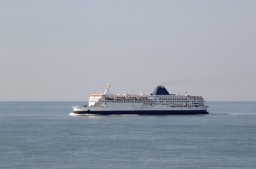
[[256,101],[256,0],[0,0],[0,101]]

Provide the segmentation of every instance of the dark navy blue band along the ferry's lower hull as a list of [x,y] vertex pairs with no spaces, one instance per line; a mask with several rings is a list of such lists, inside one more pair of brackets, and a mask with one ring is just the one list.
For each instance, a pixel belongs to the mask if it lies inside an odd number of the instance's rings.
[[77,114],[98,114],[98,115],[193,115],[207,114],[206,110],[127,110],[127,111],[74,111]]

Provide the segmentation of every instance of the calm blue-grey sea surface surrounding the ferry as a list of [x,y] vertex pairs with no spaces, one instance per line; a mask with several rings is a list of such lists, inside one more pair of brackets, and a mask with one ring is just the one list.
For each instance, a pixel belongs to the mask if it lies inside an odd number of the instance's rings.
[[69,115],[83,102],[0,102],[1,169],[255,169],[256,102],[207,115]]

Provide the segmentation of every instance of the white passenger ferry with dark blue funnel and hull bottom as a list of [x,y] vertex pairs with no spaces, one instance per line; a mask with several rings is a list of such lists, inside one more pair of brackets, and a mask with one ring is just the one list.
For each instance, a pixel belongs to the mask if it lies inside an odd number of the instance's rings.
[[74,114],[85,115],[195,115],[207,114],[202,96],[169,94],[164,86],[157,86],[150,95],[112,94],[110,80],[103,94],[89,94],[87,105],[72,106]]

